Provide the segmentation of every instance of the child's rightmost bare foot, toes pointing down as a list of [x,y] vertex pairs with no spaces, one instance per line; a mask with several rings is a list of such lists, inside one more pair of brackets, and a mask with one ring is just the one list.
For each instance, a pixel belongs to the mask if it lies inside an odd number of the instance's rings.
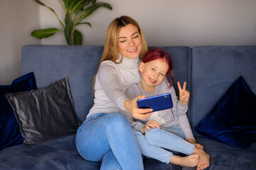
[[210,165],[210,155],[206,154],[202,149],[197,149],[195,147],[194,153],[199,154],[199,162],[196,170],[206,169]]

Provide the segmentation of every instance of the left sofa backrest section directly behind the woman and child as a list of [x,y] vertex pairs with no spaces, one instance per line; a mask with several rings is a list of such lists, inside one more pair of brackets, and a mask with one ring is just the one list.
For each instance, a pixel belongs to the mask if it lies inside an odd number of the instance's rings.
[[[191,48],[161,47],[174,64],[174,88],[177,81],[187,81],[191,91]],[[34,72],[38,88],[68,77],[75,101],[75,111],[85,120],[92,107],[92,79],[97,72],[103,46],[25,45],[22,47],[22,74]],[[190,118],[190,109],[188,118]]]

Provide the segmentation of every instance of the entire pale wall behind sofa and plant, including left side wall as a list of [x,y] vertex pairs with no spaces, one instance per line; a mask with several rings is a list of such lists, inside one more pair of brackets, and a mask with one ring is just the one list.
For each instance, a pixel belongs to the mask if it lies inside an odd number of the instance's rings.
[[[41,0],[64,18],[58,0]],[[119,16],[136,19],[148,45],[256,45],[255,0],[98,0],[99,8],[79,26],[83,45],[104,45],[107,26]],[[33,0],[0,0],[0,84],[21,75],[21,46],[66,45],[63,33],[38,40],[34,29],[61,28],[57,18]]]

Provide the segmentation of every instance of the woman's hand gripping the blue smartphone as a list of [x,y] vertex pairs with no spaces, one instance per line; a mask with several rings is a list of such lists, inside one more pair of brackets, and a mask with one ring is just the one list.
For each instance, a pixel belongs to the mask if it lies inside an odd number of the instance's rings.
[[136,119],[146,119],[153,111],[151,108],[138,108],[137,100],[145,98],[145,96],[137,96],[132,100],[124,101],[124,108],[132,114]]

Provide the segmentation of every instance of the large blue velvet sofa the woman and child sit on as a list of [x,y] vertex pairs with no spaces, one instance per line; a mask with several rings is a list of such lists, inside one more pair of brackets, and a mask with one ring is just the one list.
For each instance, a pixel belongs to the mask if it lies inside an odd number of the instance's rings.
[[[174,88],[177,90],[177,81],[188,83],[191,98],[187,115],[196,141],[210,154],[208,169],[256,169],[255,143],[246,148],[234,147],[195,130],[238,77],[242,76],[252,93],[256,94],[256,46],[161,48],[171,55],[174,63]],[[83,121],[92,106],[92,77],[97,72],[102,51],[103,46],[25,45],[22,47],[22,74],[33,72],[38,89],[68,77],[75,112]],[[247,118],[248,121],[255,118],[256,111],[251,112],[254,115]],[[243,113],[240,114],[242,117]],[[221,118],[215,123],[216,126],[223,125]],[[215,125],[210,128],[213,127]],[[252,133],[253,137],[252,141],[255,141],[256,133]],[[16,145],[2,149],[0,169],[94,170],[100,169],[100,163],[80,157],[73,134],[38,145]],[[144,169],[189,168],[145,158]]]

